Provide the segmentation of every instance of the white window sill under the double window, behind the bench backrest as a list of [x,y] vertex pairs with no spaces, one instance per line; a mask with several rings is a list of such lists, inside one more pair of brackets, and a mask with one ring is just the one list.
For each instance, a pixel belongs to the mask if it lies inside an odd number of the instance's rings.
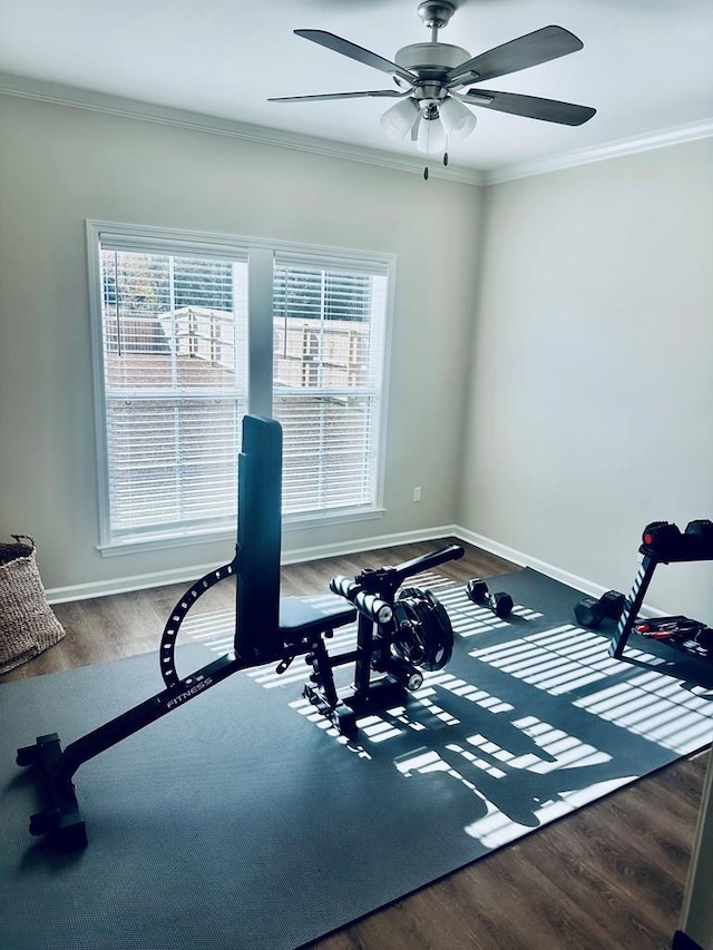
[[[312,512],[309,515],[285,515],[282,519],[282,531],[301,531],[311,528],[324,528],[331,525],[349,525],[356,521],[370,521],[382,518],[385,508],[351,508],[343,511]],[[120,557],[121,555],[147,554],[170,548],[193,547],[215,542],[235,543],[235,528],[216,528],[211,531],[172,531],[166,535],[134,536],[126,540],[109,541],[98,545],[97,550],[102,558]]]

